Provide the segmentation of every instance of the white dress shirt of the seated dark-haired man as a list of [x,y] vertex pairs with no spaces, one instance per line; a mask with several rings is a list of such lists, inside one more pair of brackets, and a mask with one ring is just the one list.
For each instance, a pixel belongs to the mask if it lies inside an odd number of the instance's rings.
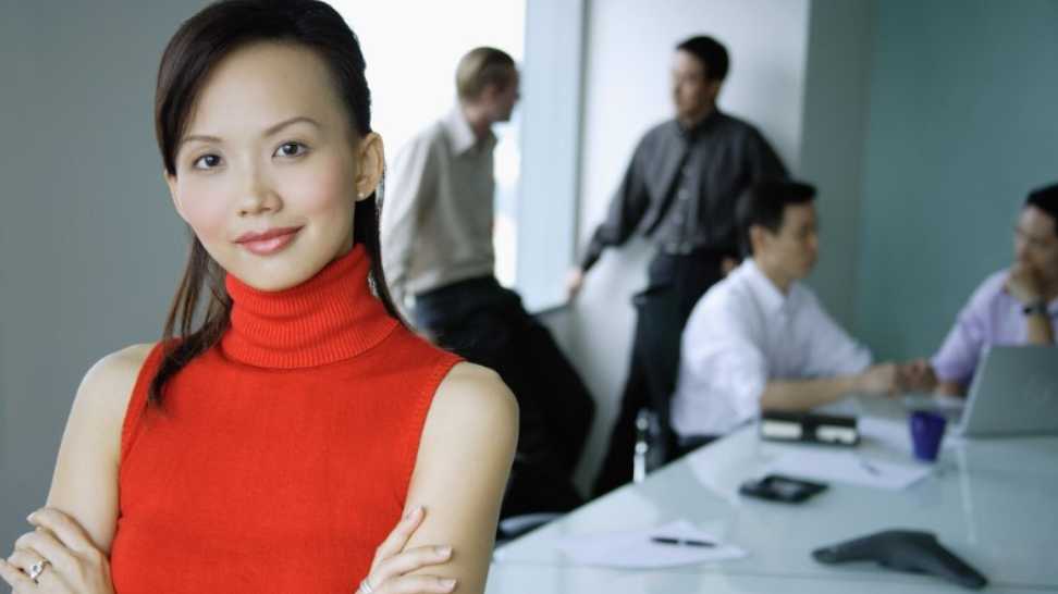
[[871,352],[810,288],[795,282],[783,295],[747,259],[698,301],[684,329],[673,429],[723,435],[760,413],[772,380],[850,375],[870,364]]

